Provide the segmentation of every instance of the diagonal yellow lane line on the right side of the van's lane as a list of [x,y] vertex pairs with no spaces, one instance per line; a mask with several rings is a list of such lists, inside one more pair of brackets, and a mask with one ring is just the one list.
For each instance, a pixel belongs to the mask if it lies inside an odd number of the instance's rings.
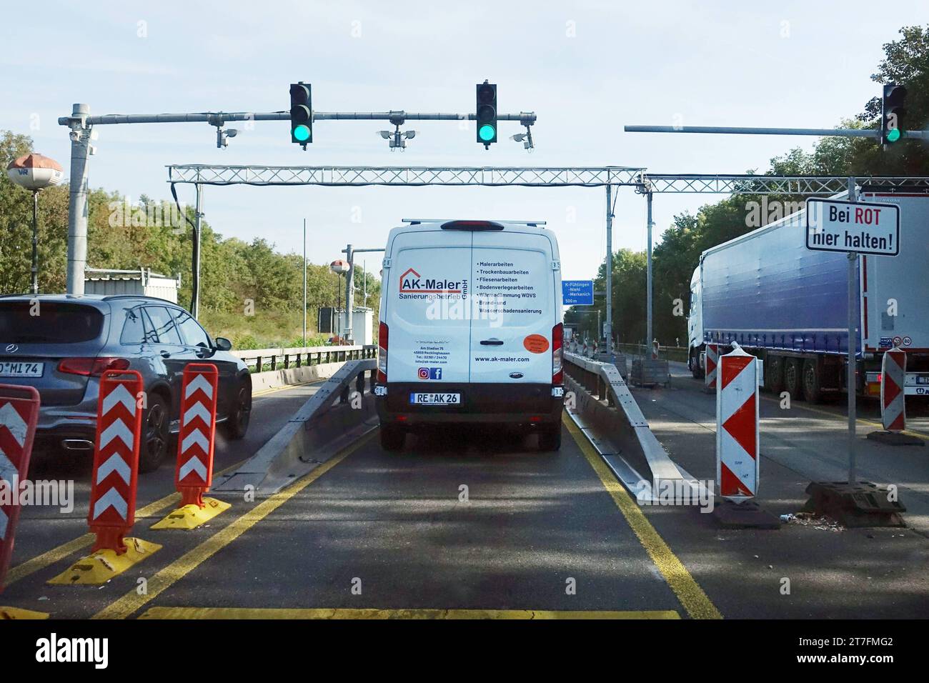
[[633,532],[638,537],[639,543],[648,552],[648,557],[658,567],[658,571],[661,571],[661,576],[668,582],[668,585],[674,591],[674,595],[677,596],[684,609],[687,610],[687,614],[692,619],[722,619],[723,615],[719,613],[710,598],[700,588],[700,584],[690,575],[684,563],[674,555],[674,551],[664,542],[659,532],[655,531],[655,528],[642,510],[639,509],[639,506],[613,476],[600,454],[596,453],[594,447],[584,438],[580,429],[575,427],[567,415],[562,415],[561,419],[571,437],[574,438],[574,441],[586,456],[587,462],[594,468],[597,477],[600,478],[603,486],[612,496],[613,502],[620,508],[622,516],[629,522],[629,526],[632,527]]

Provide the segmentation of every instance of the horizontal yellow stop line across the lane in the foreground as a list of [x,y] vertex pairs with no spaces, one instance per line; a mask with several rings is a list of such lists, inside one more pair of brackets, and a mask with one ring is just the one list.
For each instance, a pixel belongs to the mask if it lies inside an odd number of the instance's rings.
[[139,619],[680,619],[674,610],[348,610],[152,607]]

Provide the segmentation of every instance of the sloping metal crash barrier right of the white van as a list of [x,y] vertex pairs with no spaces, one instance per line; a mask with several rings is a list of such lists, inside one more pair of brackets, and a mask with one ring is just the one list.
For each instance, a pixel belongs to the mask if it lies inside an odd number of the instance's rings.
[[[691,479],[652,434],[613,364],[574,353],[564,354],[564,361],[565,389],[574,394],[568,407],[571,419],[630,491],[645,495],[643,489],[657,491],[662,480]],[[566,398],[566,405],[570,403]]]

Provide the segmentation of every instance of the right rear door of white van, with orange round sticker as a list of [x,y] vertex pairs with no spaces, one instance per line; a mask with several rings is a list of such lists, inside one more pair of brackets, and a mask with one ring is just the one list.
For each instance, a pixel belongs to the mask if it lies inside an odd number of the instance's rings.
[[552,243],[517,230],[474,232],[471,382],[552,382],[560,317]]

